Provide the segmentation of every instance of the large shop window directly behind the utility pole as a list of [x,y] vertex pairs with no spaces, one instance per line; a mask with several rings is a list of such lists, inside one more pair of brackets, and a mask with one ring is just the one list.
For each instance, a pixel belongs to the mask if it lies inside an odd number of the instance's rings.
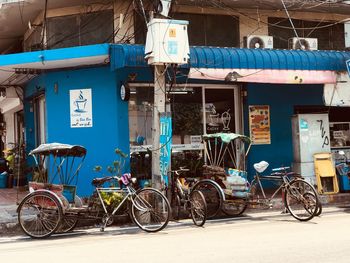
[[[191,143],[191,136],[203,134],[202,89],[173,89],[168,94],[173,119],[173,144]],[[130,143],[152,144],[153,87],[133,87],[129,100]]]

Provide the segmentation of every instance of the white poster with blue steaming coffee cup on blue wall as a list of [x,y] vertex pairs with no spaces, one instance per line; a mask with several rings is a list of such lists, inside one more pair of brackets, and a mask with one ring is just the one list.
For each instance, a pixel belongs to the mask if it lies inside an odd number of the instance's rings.
[[73,89],[69,91],[70,127],[92,127],[91,89]]

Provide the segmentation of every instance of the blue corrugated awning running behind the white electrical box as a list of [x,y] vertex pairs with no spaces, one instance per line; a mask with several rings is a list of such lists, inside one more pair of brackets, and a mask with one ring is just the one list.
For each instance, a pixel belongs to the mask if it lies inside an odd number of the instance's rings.
[[[143,45],[111,45],[111,69],[147,67]],[[191,68],[346,71],[350,52],[191,47]]]

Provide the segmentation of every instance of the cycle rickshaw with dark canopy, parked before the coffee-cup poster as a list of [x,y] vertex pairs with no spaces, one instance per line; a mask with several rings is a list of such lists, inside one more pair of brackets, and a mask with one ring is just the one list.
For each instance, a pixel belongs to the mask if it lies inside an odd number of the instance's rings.
[[86,156],[82,146],[42,144],[29,155],[36,162],[35,182],[29,182],[30,193],[17,212],[22,230],[32,238],[72,231],[80,220],[102,222],[103,231],[120,211],[146,232],[160,231],[169,222],[170,205],[166,197],[153,188],[136,191],[132,187],[136,180],[130,174],[93,179],[95,191],[83,204],[76,195],[79,171]]

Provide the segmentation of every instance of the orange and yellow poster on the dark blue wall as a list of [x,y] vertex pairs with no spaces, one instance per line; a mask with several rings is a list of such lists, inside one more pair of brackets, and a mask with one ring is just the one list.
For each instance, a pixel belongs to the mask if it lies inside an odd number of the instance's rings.
[[249,128],[252,144],[270,144],[270,108],[268,105],[249,106]]

